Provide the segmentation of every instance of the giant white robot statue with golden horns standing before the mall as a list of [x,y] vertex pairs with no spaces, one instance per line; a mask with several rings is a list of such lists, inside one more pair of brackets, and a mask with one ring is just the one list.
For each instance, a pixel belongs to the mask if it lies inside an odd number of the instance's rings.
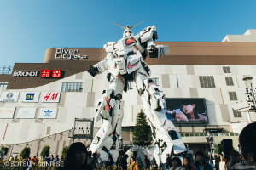
[[[125,104],[122,101],[122,94],[123,91],[126,92],[128,82],[134,81],[154,142],[160,139],[160,146],[166,146],[166,150],[160,156],[165,163],[167,153],[181,156],[186,147],[176,127],[166,119],[166,95],[149,78],[150,69],[145,59],[147,56],[160,58],[169,52],[168,46],[155,46],[154,42],[158,38],[155,26],[148,26],[136,36],[131,31],[134,26],[121,27],[125,29],[123,38],[118,42],[108,42],[104,45],[107,57],[96,65],[89,66],[88,72],[92,77],[108,70],[107,79],[110,84],[108,89],[102,91],[102,98],[96,103],[96,121],[102,118],[103,124],[89,150],[98,151],[101,154],[101,161],[108,161],[108,154],[113,156],[113,161],[117,160]],[[154,157],[159,164],[158,146],[154,150]]]

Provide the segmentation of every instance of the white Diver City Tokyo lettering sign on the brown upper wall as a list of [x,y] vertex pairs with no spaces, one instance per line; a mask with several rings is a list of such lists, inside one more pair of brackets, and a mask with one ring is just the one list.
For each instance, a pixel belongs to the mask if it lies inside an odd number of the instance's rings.
[[88,59],[87,55],[77,54],[78,52],[79,52],[78,49],[57,48],[55,59],[67,59],[67,60]]

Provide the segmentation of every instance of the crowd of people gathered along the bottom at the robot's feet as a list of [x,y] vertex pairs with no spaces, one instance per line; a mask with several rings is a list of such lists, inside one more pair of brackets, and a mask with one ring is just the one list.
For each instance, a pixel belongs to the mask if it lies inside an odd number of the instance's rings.
[[[108,161],[99,161],[100,153],[92,153],[83,143],[76,142],[70,145],[67,152],[67,157],[62,166],[57,167],[58,170],[98,170],[98,169],[120,169],[120,170],[236,170],[247,169],[256,170],[256,122],[248,124],[247,127],[241,131],[239,136],[239,147],[241,155],[236,150],[229,150],[229,152],[223,152],[220,156],[206,156],[201,150],[195,153],[194,159],[190,157],[183,157],[181,159],[178,156],[170,157],[166,155],[166,163],[158,167],[156,160],[150,160],[147,155],[144,155],[143,159],[139,156],[137,151],[133,151],[132,156],[128,160],[128,155],[119,151],[119,156],[116,162],[113,161],[113,157],[109,155]],[[9,161],[20,161],[18,157],[11,156]],[[22,160],[22,158],[21,158]],[[30,162],[32,167],[37,164],[38,159],[34,156],[32,159],[26,157],[23,161]],[[54,157],[45,156],[45,162],[60,161],[59,156]],[[127,162],[129,161],[129,162]],[[213,163],[214,161],[214,163]],[[99,163],[101,162],[101,163]],[[224,162],[224,168],[219,167],[219,163]],[[212,165],[214,166],[212,167]],[[32,167],[24,167],[24,169],[30,169]],[[51,169],[49,166],[48,169]],[[56,169],[56,168],[55,168]]]

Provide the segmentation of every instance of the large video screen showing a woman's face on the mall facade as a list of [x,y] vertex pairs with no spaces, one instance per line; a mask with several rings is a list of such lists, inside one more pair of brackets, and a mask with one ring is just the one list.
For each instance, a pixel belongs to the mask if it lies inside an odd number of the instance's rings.
[[205,99],[166,99],[166,117],[173,123],[208,123]]

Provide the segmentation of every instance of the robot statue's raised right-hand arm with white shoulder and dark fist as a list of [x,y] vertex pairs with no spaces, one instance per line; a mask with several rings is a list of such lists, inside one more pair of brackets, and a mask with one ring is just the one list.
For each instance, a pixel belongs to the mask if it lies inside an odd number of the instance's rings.
[[157,45],[154,42],[158,39],[155,26],[148,26],[140,32],[141,42],[147,44],[148,55],[150,58],[160,58],[169,52],[168,46]]

